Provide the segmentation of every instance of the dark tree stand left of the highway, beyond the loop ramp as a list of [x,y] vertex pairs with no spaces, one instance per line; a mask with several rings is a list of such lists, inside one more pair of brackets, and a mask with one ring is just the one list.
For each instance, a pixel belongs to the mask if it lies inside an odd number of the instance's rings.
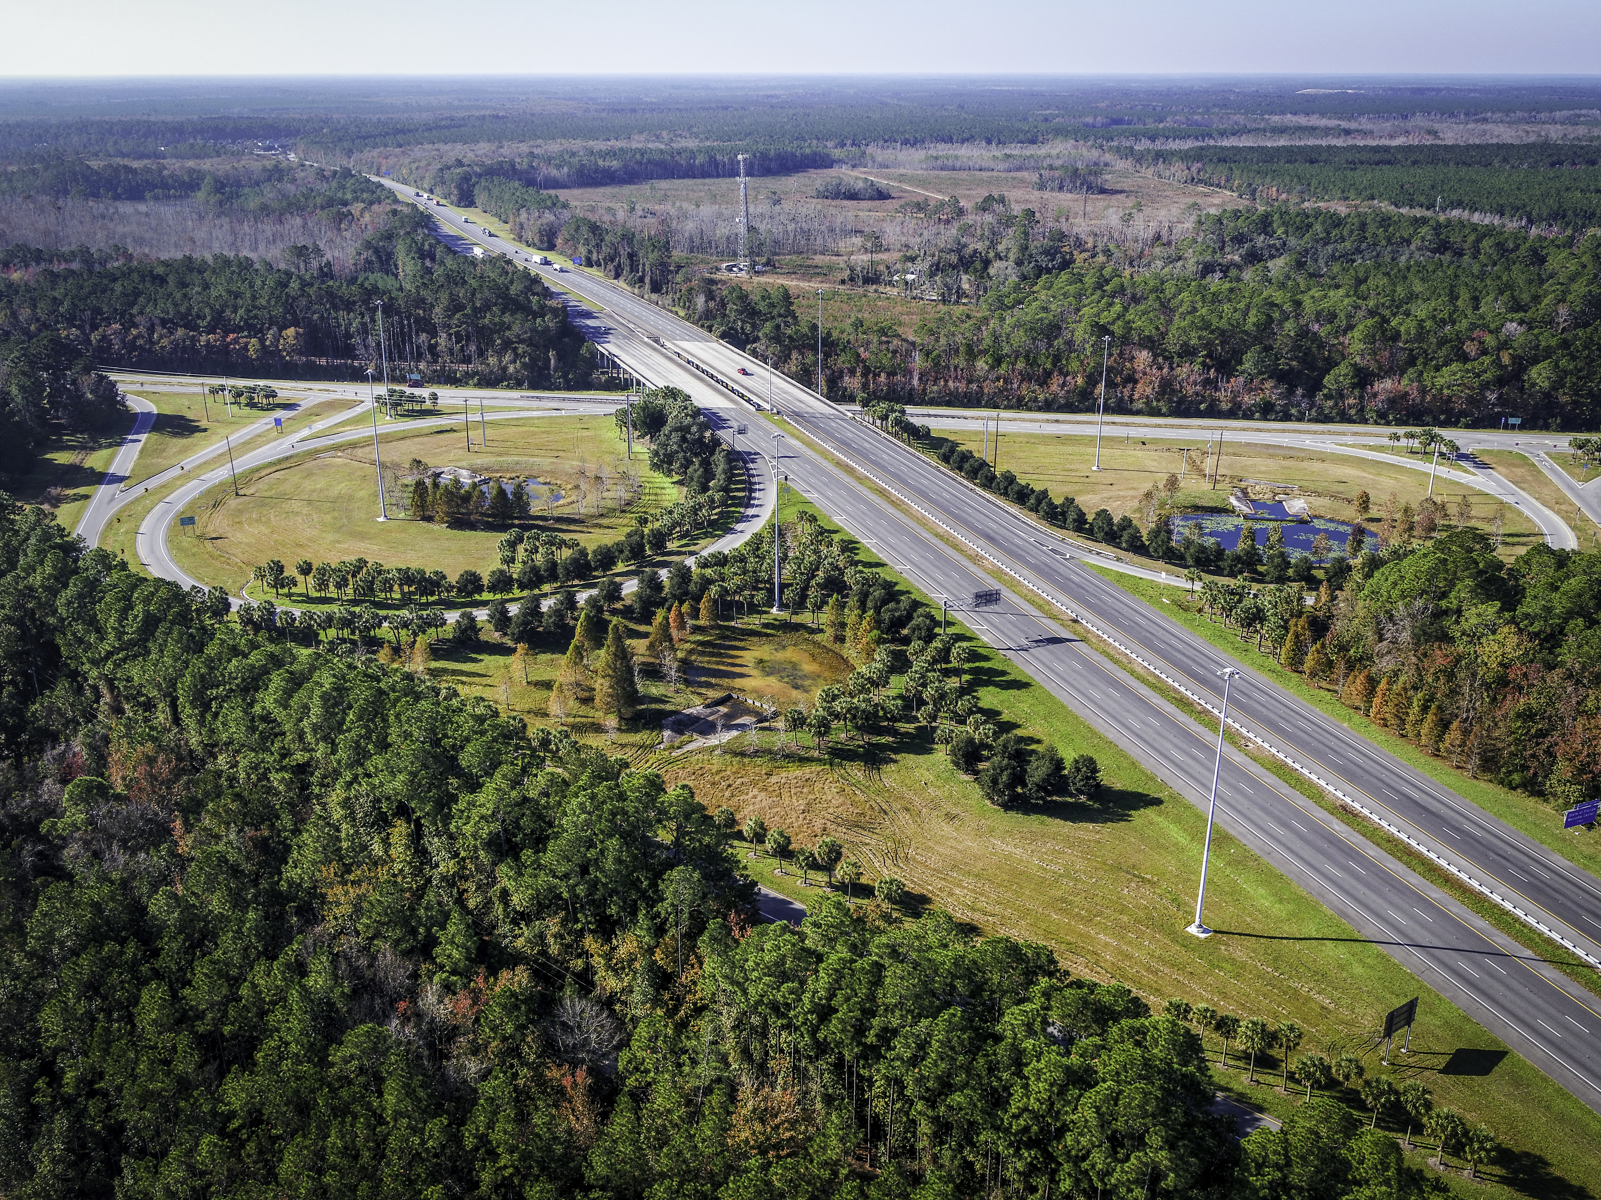
[[351,378],[378,360],[384,301],[392,367],[477,385],[581,386],[592,349],[530,272],[448,253],[415,208],[333,279],[315,247],[293,269],[243,256],[107,261],[0,277],[0,336],[58,333],[120,367]]

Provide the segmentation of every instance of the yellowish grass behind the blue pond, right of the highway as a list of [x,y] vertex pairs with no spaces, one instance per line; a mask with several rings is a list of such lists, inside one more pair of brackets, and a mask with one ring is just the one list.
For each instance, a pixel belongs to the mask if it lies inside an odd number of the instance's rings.
[[[965,445],[981,455],[983,429],[933,429],[935,437]],[[994,433],[991,431],[991,439]],[[1404,466],[1354,455],[1316,453],[1284,445],[1257,445],[1244,441],[1223,439],[1222,473],[1217,489],[1204,481],[1206,439],[1198,437],[1190,447],[1190,465],[1185,468],[1185,447],[1166,442],[1142,442],[1124,433],[1108,433],[1101,441],[1101,471],[1095,471],[1095,437],[1084,434],[1007,433],[1002,428],[997,469],[1013,471],[1036,487],[1049,487],[1060,500],[1071,495],[1085,513],[1106,508],[1113,516],[1130,513],[1138,516],[1140,495],[1151,484],[1161,484],[1169,474],[1182,477],[1175,495],[1180,508],[1228,509],[1230,487],[1246,479],[1270,484],[1294,484],[1311,503],[1314,516],[1335,521],[1356,519],[1356,495],[1367,492],[1372,516],[1377,521],[1393,493],[1396,508],[1410,503],[1414,511],[1428,495],[1428,476]],[[1214,450],[1215,453],[1215,450]],[[991,458],[996,447],[991,442]],[[1201,466],[1201,469],[1198,469]],[[1516,550],[1543,540],[1535,524],[1513,505],[1455,484],[1441,485],[1436,481],[1434,500],[1449,506],[1455,516],[1457,500],[1467,490],[1473,505],[1471,524],[1489,530],[1495,511],[1503,514],[1503,543]],[[1143,521],[1142,521],[1143,524]]]

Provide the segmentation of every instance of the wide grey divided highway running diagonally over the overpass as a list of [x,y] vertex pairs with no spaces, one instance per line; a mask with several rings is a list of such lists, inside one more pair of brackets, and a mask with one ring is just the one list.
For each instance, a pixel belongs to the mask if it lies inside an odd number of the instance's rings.
[[[453,219],[443,210],[429,211]],[[527,261],[524,252],[496,245],[498,239],[474,237],[474,226],[456,221],[453,228],[516,261]],[[608,352],[653,383],[672,383],[696,399],[716,397],[719,407],[727,407],[727,391],[703,373],[709,370],[722,380],[738,380],[748,394],[765,396],[760,364],[624,288],[578,272],[552,276],[551,282],[604,306],[605,314],[599,317],[583,312],[578,304],[570,304],[570,311]],[[749,378],[740,375],[741,367]],[[922,509],[1020,585],[1103,630],[1196,695],[1215,695],[1215,671],[1231,662],[1183,626],[1085,570],[1073,558],[1076,551],[1069,543],[789,380],[775,380],[775,399],[794,428]],[[752,426],[751,436],[772,444],[770,434],[778,426],[754,412],[744,420]],[[964,598],[993,586],[962,553],[903,517],[825,455],[800,439],[784,441],[778,461],[791,484],[925,591]],[[1202,803],[1212,753],[1204,727],[1081,644],[1065,626],[1039,615],[1015,590],[1004,590],[999,607],[969,620],[988,644],[1018,662],[1153,774]],[[1510,894],[1548,915],[1561,936],[1571,936],[1587,953],[1601,952],[1601,945],[1580,934],[1567,916],[1551,915],[1555,910],[1583,921],[1582,910],[1593,908],[1601,916],[1601,889],[1591,876],[1451,796],[1260,676],[1247,673],[1236,681],[1231,716],[1236,703],[1241,724],[1252,735],[1302,769],[1322,774],[1335,788],[1356,788],[1369,798],[1374,791],[1393,796],[1390,811],[1434,844],[1452,835],[1476,838],[1468,854],[1444,846],[1457,854],[1449,860],[1463,872],[1487,876],[1491,888],[1500,886],[1502,875],[1518,872],[1521,886],[1539,900],[1518,889],[1508,889]],[[1451,828],[1439,822],[1443,812],[1451,814]],[[1601,1110],[1601,1005],[1595,997],[1233,751],[1223,772],[1220,819],[1236,838],[1364,937],[1385,947],[1585,1104]],[[1535,886],[1535,880],[1543,886]],[[1579,897],[1577,902],[1564,888]],[[1601,924],[1596,931],[1601,932]]]

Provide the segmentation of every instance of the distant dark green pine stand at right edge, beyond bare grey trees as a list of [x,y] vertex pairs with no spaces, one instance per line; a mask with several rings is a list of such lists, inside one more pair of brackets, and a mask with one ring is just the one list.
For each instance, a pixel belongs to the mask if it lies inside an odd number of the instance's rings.
[[1601,218],[1595,143],[1468,146],[1201,146],[1135,151],[1185,183],[1247,199],[1382,200],[1399,208],[1494,213],[1579,232]]

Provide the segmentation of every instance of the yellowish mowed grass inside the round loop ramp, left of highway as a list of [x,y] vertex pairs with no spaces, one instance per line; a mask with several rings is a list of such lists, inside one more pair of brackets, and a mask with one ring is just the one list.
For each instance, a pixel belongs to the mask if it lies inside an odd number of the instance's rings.
[[[624,449],[610,417],[530,417],[500,421],[490,431],[488,452],[471,455],[456,442],[459,431],[395,433],[381,441],[384,461],[416,458],[431,466],[466,466],[487,476],[536,476],[572,495],[580,473],[605,469],[612,485],[604,500],[588,497],[580,516],[576,498],[554,508],[535,508],[535,526],[576,537],[584,545],[616,542],[636,513],[671,503],[676,485],[644,465],[636,452],[632,471],[640,492],[616,505],[615,479],[623,473]],[[226,484],[210,489],[184,509],[195,516],[194,537],[171,537],[173,558],[195,578],[239,586],[250,570],[269,559],[338,562],[365,558],[389,566],[418,566],[455,577],[472,567],[498,566],[501,529],[450,529],[411,519],[391,497],[391,519],[378,521],[376,473],[371,445],[357,444],[263,466],[240,476],[240,495]],[[599,506],[600,511],[596,511]]]

